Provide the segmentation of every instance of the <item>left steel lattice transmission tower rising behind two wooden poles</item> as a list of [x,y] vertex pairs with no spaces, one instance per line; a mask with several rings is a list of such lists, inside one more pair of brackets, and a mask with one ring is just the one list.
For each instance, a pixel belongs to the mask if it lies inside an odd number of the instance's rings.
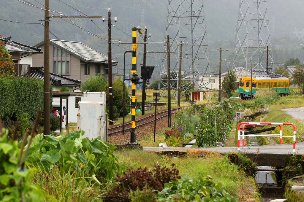
[[[164,41],[170,36],[171,89],[177,100],[178,73],[181,67],[181,96],[191,96],[193,90],[212,90],[205,14],[202,0],[168,0],[168,16]],[[167,44],[159,81],[161,97],[167,92]],[[181,55],[180,55],[181,53]],[[180,63],[181,61],[181,63]],[[180,66],[181,64],[181,66]]]

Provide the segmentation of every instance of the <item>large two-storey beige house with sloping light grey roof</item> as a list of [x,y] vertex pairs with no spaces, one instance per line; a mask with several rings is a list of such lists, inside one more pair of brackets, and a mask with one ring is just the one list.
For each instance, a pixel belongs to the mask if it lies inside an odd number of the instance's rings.
[[[35,45],[44,50],[44,41]],[[33,57],[35,67],[43,66],[43,54]],[[112,65],[117,65],[112,60]],[[89,75],[101,74],[108,78],[108,57],[89,46],[75,41],[50,39],[50,72],[84,81]],[[113,74],[116,80],[120,74]]]

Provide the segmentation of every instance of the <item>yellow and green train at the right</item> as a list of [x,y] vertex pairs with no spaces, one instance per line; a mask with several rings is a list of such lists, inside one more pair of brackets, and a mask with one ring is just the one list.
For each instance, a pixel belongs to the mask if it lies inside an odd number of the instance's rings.
[[239,79],[239,97],[241,99],[250,98],[250,84],[252,85],[252,95],[257,90],[265,89],[283,96],[288,94],[289,89],[289,79],[286,77],[252,77],[252,82],[250,82],[250,77],[241,77]]

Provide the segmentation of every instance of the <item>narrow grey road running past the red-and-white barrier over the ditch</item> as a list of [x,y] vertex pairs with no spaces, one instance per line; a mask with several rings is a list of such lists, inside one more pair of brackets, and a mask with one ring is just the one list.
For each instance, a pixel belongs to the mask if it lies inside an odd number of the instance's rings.
[[[259,153],[265,154],[293,154],[293,144],[284,144],[284,145],[264,145],[264,146],[244,146],[240,147],[240,152],[242,153]],[[195,148],[195,147],[144,147],[146,151],[187,151],[188,149],[195,150],[210,150],[217,151],[221,153],[227,153],[232,151],[237,151],[237,147],[212,147],[212,148]],[[295,153],[304,155],[304,142],[299,142],[295,146]]]

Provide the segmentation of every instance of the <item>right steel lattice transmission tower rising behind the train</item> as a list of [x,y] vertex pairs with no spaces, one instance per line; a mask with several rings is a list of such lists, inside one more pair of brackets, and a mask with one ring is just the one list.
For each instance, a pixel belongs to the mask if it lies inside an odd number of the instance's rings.
[[[238,71],[238,76],[250,74],[251,62],[254,64],[252,72],[266,74],[266,49],[267,45],[271,47],[268,22],[266,0],[240,0],[233,67],[244,70]],[[269,53],[268,74],[272,74],[273,60]]]

